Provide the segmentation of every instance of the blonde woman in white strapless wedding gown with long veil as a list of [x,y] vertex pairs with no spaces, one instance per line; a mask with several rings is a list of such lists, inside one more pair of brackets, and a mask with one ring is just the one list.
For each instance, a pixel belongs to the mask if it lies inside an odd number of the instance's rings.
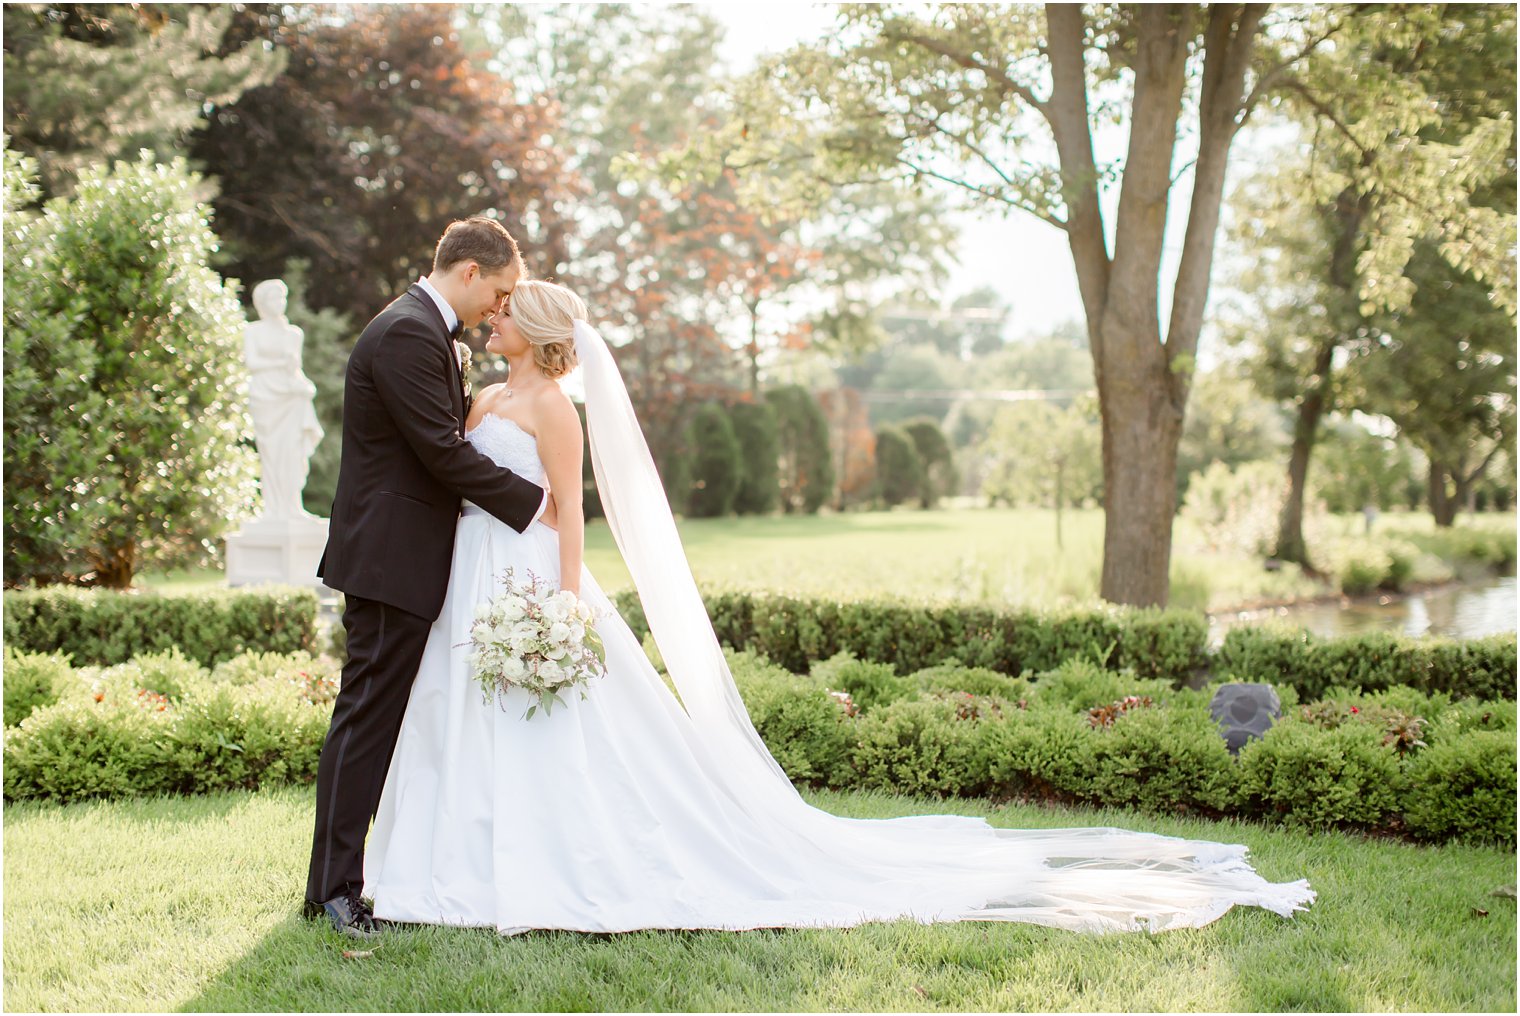
[[[766,751],[687,567],[628,392],[568,289],[523,281],[491,318],[506,357],[467,440],[546,479],[559,532],[515,532],[467,503],[448,595],[412,687],[365,853],[377,919],[588,932],[1017,920],[1104,932],[1207,925],[1236,903],[1284,917],[1307,882],[1271,884],[1245,847],[1120,829],[994,829],[979,818],[839,818],[809,806]],[[556,383],[585,380],[606,519],[679,694],[582,566],[579,417]],[[524,719],[468,669],[476,605],[521,576],[596,611],[606,674]]]

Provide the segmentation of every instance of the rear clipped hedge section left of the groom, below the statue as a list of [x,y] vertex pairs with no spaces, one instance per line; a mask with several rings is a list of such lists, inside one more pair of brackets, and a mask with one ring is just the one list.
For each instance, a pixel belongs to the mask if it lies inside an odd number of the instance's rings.
[[169,649],[214,666],[248,651],[315,651],[316,611],[316,593],[293,587],[190,596],[64,587],[8,592],[5,643],[64,652],[79,666]]

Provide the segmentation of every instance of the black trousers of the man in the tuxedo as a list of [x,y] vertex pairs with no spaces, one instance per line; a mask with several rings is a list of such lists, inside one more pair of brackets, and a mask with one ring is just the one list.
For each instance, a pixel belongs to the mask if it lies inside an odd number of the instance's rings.
[[316,767],[316,832],[306,897],[359,891],[365,835],[380,808],[391,753],[433,622],[360,596],[344,598],[348,660]]

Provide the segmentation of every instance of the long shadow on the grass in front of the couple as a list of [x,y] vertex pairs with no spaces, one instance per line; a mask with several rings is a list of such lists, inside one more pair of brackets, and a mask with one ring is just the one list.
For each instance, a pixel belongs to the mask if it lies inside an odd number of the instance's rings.
[[1125,999],[1146,1010],[1157,992],[1167,998],[1169,972],[1186,983],[1198,964],[1233,981],[1211,996],[1228,1008],[1359,1008],[1324,949],[1318,929],[1249,910],[1161,935],[1000,923],[515,937],[404,926],[372,945],[292,913],[182,1011],[1017,1011],[1123,1010]]

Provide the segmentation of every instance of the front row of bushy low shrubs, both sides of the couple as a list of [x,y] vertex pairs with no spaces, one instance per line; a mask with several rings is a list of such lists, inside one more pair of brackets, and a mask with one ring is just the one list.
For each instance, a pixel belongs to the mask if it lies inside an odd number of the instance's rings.
[[[798,783],[1052,800],[1303,827],[1514,843],[1515,706],[1397,687],[1306,706],[1231,757],[1211,689],[1073,660],[1040,675],[898,674],[836,656],[793,674],[733,654],[751,718]],[[8,799],[79,800],[310,780],[336,662],[169,654],[74,671],[8,651]]]

